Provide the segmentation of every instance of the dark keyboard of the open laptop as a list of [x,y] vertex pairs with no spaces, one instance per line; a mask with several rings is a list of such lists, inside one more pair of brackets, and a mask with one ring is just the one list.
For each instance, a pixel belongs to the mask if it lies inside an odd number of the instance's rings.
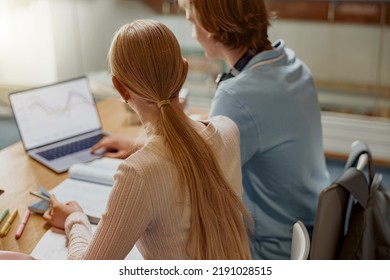
[[102,139],[102,135],[92,136],[90,138],[82,139],[63,146],[55,147],[50,150],[39,152],[38,155],[44,157],[47,160],[54,160],[84,149],[88,149],[89,147],[92,147],[94,144],[99,142],[100,139]]

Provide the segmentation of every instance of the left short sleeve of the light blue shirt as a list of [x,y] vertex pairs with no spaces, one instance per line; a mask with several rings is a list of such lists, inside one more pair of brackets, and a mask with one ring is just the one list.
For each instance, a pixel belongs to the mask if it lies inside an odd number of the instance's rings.
[[234,94],[219,90],[210,108],[210,117],[227,116],[240,132],[241,165],[244,165],[261,147],[259,128],[245,104]]

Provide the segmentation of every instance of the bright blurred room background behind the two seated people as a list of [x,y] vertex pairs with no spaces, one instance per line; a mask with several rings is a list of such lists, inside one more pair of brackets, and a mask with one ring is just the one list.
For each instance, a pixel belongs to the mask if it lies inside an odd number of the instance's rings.
[[[353,140],[362,139],[387,172],[390,2],[267,0],[267,4],[274,15],[271,41],[283,39],[313,73],[330,169],[342,166]],[[19,140],[9,92],[87,75],[97,100],[116,98],[107,51],[113,33],[137,18],[160,20],[176,34],[190,62],[189,105],[207,109],[215,77],[226,65],[204,57],[176,1],[1,0],[0,149]]]

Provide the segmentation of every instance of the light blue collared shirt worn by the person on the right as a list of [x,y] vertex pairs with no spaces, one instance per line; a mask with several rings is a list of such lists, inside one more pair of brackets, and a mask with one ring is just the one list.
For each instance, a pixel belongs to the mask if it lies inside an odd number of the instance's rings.
[[293,224],[301,220],[312,232],[319,193],[329,184],[312,75],[282,40],[273,46],[220,83],[210,111],[240,131],[254,259],[289,259]]

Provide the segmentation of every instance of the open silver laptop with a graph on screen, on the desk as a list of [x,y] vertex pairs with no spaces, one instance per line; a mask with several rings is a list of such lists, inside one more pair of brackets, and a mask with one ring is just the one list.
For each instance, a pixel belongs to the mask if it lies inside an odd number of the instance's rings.
[[89,149],[102,137],[102,125],[87,77],[9,95],[27,154],[57,173],[101,157]]

